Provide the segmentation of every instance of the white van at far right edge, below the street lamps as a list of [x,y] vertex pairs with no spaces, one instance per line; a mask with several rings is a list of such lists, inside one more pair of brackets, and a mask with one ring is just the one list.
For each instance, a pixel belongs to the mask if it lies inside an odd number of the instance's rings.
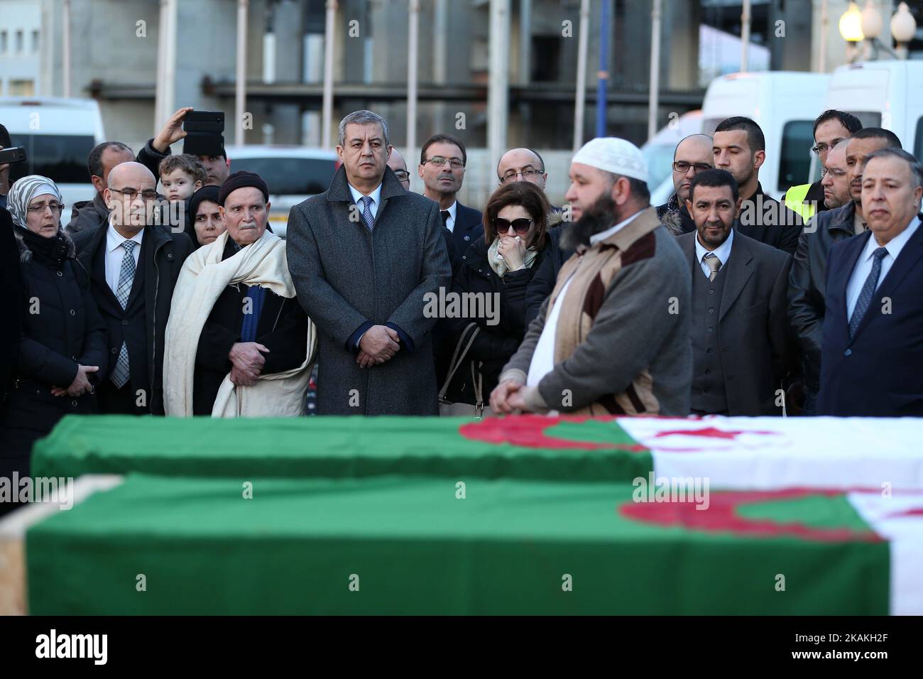
[[906,152],[923,158],[923,61],[869,61],[833,71],[826,108],[884,127]]

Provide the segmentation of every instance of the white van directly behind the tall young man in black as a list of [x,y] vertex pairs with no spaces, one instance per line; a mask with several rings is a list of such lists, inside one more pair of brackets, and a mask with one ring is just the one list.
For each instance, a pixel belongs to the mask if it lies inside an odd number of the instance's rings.
[[744,115],[762,128],[766,162],[760,168],[762,190],[782,199],[810,174],[814,119],[827,108],[825,73],[764,71],[732,73],[712,80],[702,103],[702,128],[714,134],[725,118]]

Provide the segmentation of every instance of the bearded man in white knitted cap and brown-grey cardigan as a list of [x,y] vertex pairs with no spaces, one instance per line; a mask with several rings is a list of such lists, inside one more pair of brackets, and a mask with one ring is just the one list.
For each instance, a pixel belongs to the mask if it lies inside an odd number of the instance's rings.
[[570,164],[576,249],[490,395],[496,413],[689,414],[691,282],[651,207],[638,147],[592,139]]

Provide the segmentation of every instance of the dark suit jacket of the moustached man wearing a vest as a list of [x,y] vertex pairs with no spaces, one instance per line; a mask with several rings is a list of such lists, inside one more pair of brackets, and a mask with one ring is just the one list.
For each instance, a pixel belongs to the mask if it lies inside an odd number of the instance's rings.
[[[695,238],[694,233],[684,234],[677,236],[677,243],[691,274],[701,276]],[[775,390],[793,348],[785,297],[791,265],[791,255],[735,232],[718,309],[718,346],[730,415],[782,414],[775,406]]]

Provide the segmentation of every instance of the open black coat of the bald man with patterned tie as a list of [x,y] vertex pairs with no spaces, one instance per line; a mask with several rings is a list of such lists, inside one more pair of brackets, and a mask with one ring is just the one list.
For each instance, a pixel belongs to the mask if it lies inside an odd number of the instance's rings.
[[[129,382],[134,394],[142,392],[145,412],[163,414],[163,343],[170,315],[170,300],[183,262],[192,251],[184,233],[162,226],[146,226],[135,284],[122,309],[106,283],[105,243],[109,227],[80,233],[74,238],[78,260],[90,273],[93,297],[109,329],[109,362],[112,372],[122,343],[128,346]],[[108,389],[110,383],[103,384]]]

